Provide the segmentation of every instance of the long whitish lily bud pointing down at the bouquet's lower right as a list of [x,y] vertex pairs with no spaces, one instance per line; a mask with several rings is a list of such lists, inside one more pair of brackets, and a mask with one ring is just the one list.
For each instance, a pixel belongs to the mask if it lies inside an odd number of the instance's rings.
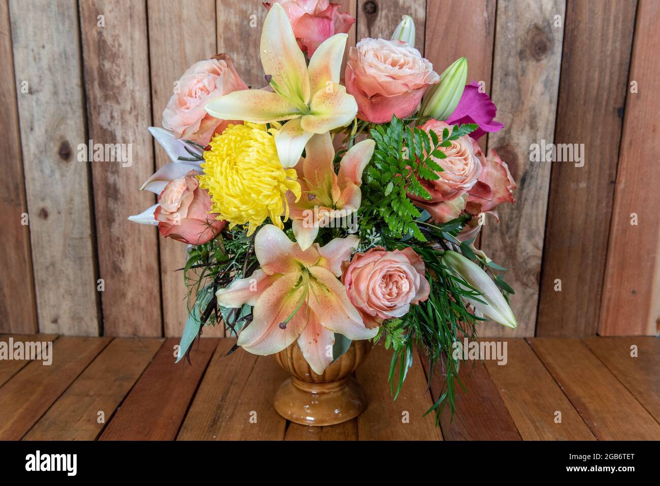
[[[497,285],[495,285],[492,279],[488,277],[488,273],[483,271],[477,263],[474,263],[463,255],[457,252],[452,252],[451,250],[444,252],[442,255],[442,263],[446,265],[451,273],[463,279],[463,281],[473,287],[473,289],[476,289],[481,294],[479,300],[482,300],[482,302],[466,297],[463,297],[463,300],[472,304],[475,309],[479,310],[495,322],[499,322],[502,326],[512,329],[518,327],[515,316],[513,316],[509,304],[506,303],[506,299],[502,293],[500,293],[500,289],[498,289]],[[463,285],[463,288],[469,290],[465,285]]]

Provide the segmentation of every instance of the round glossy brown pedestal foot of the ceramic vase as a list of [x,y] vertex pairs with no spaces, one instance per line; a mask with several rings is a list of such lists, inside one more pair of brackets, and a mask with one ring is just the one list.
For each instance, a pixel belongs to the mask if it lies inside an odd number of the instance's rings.
[[292,376],[275,394],[277,413],[302,425],[335,425],[354,419],[365,407],[364,390],[352,376],[320,383]]

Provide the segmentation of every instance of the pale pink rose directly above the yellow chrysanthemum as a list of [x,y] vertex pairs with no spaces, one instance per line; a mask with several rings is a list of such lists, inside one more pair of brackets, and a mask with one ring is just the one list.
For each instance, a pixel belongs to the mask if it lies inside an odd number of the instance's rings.
[[228,55],[218,54],[193,64],[177,83],[162,120],[163,127],[174,132],[174,138],[191,140],[206,147],[213,133],[221,132],[229,123],[238,123],[219,120],[204,110],[207,103],[218,96],[248,89]]

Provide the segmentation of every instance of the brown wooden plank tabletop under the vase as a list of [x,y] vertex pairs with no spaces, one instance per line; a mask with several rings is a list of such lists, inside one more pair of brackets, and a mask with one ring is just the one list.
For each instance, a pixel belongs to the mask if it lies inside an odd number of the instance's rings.
[[174,338],[9,337],[53,340],[53,361],[0,361],[0,440],[660,440],[655,337],[507,339],[506,365],[462,366],[467,394],[439,428],[422,414],[440,381],[427,390],[416,357],[392,401],[381,345],[356,371],[364,413],[305,427],[273,408],[284,370],[242,349],[226,357],[235,339],[201,339],[189,366],[174,364]]

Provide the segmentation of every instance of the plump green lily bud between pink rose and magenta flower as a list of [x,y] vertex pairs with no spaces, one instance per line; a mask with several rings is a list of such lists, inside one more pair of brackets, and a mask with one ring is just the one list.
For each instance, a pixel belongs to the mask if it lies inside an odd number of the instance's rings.
[[440,83],[424,94],[420,114],[436,120],[447,120],[461,100],[466,80],[467,59],[461,57],[440,75]]

